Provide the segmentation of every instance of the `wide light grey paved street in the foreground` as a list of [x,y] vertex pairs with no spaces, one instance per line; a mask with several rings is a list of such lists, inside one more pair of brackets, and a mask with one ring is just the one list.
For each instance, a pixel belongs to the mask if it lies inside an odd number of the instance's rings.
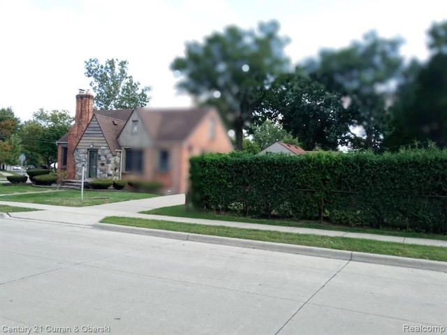
[[446,297],[443,272],[0,218],[0,334],[447,334]]

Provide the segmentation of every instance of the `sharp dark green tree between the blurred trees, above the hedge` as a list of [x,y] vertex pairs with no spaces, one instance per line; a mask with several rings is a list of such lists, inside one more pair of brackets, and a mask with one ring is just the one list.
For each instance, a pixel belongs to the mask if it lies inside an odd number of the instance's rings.
[[351,114],[345,110],[341,96],[303,75],[282,75],[272,84],[267,105],[270,116],[276,115],[285,132],[298,137],[302,147],[313,150],[336,150],[349,138]]

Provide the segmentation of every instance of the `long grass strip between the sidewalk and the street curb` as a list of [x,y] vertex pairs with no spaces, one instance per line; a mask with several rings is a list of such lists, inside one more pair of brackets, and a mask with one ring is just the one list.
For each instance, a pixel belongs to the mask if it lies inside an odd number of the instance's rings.
[[108,216],[102,223],[127,225],[140,228],[170,230],[174,232],[189,232],[236,239],[251,239],[301,246],[316,246],[337,250],[358,251],[361,253],[376,253],[424,260],[447,261],[447,248],[440,246],[419,246],[395,242],[374,241],[369,239],[352,239],[349,237],[327,237],[312,234],[293,234],[291,232],[274,232],[256,229],[231,228],[221,225],[198,225],[195,223],[177,223],[169,221],[150,220],[145,218],[123,218]]

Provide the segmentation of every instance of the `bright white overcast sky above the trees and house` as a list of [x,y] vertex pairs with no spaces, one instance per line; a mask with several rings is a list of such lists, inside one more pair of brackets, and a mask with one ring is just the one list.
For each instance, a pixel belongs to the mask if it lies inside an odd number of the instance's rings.
[[149,107],[187,107],[170,63],[187,41],[229,24],[250,29],[277,20],[294,63],[372,29],[404,38],[404,57],[425,60],[427,29],[447,19],[447,1],[0,0],[0,15],[0,108],[25,121],[39,108],[74,115],[78,89],[89,89],[91,58],[129,61],[129,75],[152,88]]

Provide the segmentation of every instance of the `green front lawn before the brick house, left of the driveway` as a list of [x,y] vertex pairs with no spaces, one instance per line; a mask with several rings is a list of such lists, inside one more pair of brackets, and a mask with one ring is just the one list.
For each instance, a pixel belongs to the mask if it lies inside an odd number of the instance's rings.
[[[13,186],[7,186],[13,187]],[[1,197],[3,201],[31,202],[34,204],[53,204],[57,206],[85,207],[95,204],[109,204],[110,202],[120,202],[126,200],[138,200],[145,198],[154,198],[158,195],[148,193],[131,193],[131,192],[94,192],[85,191],[84,201],[81,202],[81,192],[75,190],[54,191],[47,193],[27,193],[20,195],[10,195]]]

